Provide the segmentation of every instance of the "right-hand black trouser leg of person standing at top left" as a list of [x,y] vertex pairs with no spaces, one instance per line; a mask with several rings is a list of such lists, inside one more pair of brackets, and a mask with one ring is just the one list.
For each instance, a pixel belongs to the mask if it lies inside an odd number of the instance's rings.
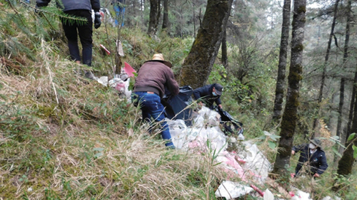
[[88,23],[78,26],[79,38],[82,44],[82,57],[85,65],[91,65],[92,48],[93,48],[93,22],[91,11],[81,10],[79,13],[82,17],[88,20]]

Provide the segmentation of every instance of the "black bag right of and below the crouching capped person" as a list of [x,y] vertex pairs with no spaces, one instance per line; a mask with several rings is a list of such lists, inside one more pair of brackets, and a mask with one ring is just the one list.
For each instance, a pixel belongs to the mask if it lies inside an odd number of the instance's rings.
[[223,125],[223,132],[224,134],[228,135],[243,135],[243,123],[238,122],[237,120],[233,119],[231,115],[229,115],[228,112],[222,110],[220,107],[216,108],[216,111],[218,111],[219,115],[221,115],[221,125]]

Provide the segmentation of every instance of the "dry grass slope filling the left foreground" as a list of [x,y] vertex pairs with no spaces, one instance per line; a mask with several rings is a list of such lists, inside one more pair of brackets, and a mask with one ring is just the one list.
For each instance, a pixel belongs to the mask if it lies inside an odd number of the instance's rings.
[[214,199],[212,157],[167,149],[135,107],[74,73],[84,66],[40,49],[29,73],[0,68],[1,198]]

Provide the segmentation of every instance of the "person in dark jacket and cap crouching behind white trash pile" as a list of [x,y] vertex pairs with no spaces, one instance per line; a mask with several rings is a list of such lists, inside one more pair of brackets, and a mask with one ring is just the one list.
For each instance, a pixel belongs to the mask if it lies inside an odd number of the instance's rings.
[[202,106],[203,103],[205,103],[206,107],[209,107],[211,110],[213,110],[214,102],[216,102],[216,105],[218,105],[218,107],[222,108],[221,105],[222,92],[223,92],[223,86],[219,83],[214,83],[193,90],[193,96],[197,100],[198,105]]

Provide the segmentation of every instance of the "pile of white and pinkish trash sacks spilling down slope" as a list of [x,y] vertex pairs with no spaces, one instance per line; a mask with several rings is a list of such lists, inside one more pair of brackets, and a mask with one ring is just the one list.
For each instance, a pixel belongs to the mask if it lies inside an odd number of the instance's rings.
[[[235,199],[254,190],[258,191],[259,189],[248,184],[248,181],[263,184],[268,178],[271,164],[256,144],[244,141],[241,143],[243,148],[240,152],[228,152],[226,150],[228,138],[219,127],[220,115],[208,107],[202,107],[192,121],[193,125],[188,127],[183,120],[167,120],[175,147],[187,151],[193,148],[205,151],[208,148],[207,144],[210,144],[211,150],[216,149],[218,152],[216,162],[221,162],[224,166],[228,174],[227,179],[237,175],[242,179],[240,183],[223,181],[215,192],[216,197]],[[264,200],[274,200],[273,193],[268,189],[258,193]],[[290,194],[287,199],[311,200],[310,194],[298,189],[294,189]]]

